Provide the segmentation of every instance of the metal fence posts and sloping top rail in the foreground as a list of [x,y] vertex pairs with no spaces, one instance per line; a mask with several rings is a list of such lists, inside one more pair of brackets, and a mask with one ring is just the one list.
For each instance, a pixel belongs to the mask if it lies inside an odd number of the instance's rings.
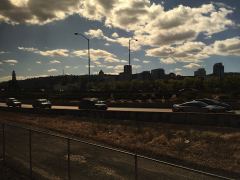
[[[7,136],[7,132],[6,132],[6,127],[8,128],[19,128],[21,130],[24,130],[27,133],[27,136],[28,136],[28,157],[29,157],[29,162],[28,162],[28,171],[29,171],[29,177],[31,179],[33,179],[34,177],[34,170],[33,170],[33,140],[32,140],[32,136],[36,133],[38,134],[43,134],[43,135],[46,135],[46,136],[49,136],[49,137],[56,137],[56,138],[60,138],[61,140],[63,140],[63,142],[65,142],[64,146],[66,147],[67,149],[67,158],[66,158],[66,179],[68,180],[71,180],[72,179],[72,174],[71,174],[71,156],[72,156],[72,152],[71,152],[71,146],[72,146],[72,143],[73,142],[76,142],[76,143],[80,143],[80,144],[85,144],[85,145],[88,145],[92,148],[98,148],[98,149],[101,149],[101,150],[104,150],[104,151],[111,151],[111,152],[116,152],[116,153],[119,153],[119,154],[124,154],[124,155],[127,155],[127,156],[130,156],[133,158],[133,169],[134,169],[134,174],[132,175],[133,179],[135,180],[138,180],[140,179],[140,173],[139,173],[139,170],[140,170],[140,167],[139,167],[139,160],[147,160],[151,163],[157,163],[157,164],[161,164],[161,165],[166,165],[168,167],[173,167],[173,168],[176,168],[176,169],[180,169],[180,170],[183,170],[183,171],[186,171],[189,172],[189,173],[193,173],[195,175],[202,175],[202,176],[206,176],[206,177],[209,177],[209,178],[213,178],[213,179],[226,179],[226,180],[230,180],[231,178],[228,178],[228,177],[224,177],[224,176],[221,176],[221,175],[216,175],[216,174],[212,174],[212,173],[208,173],[208,172],[204,172],[204,171],[201,171],[201,170],[196,170],[196,169],[192,169],[192,168],[188,168],[188,167],[184,167],[184,166],[181,166],[181,165],[176,165],[176,164],[173,164],[173,163],[168,163],[168,162],[165,162],[165,161],[161,161],[161,160],[157,160],[157,159],[153,159],[153,158],[149,158],[149,157],[146,157],[146,156],[142,156],[142,155],[139,155],[137,153],[131,153],[131,152],[128,152],[128,151],[124,151],[124,150],[120,150],[120,149],[116,149],[116,148],[111,148],[111,147],[107,147],[107,146],[104,146],[104,145],[100,145],[100,144],[95,144],[95,143],[92,143],[92,142],[88,142],[88,141],[83,141],[83,140],[80,140],[80,139],[76,139],[76,138],[72,138],[72,137],[68,137],[68,136],[64,136],[64,135],[60,135],[60,134],[56,134],[56,133],[53,133],[53,132],[48,132],[48,131],[44,131],[44,130],[39,130],[39,129],[33,129],[33,128],[29,128],[29,127],[26,127],[26,126],[20,126],[20,125],[17,125],[17,124],[12,124],[12,123],[3,123],[1,124],[1,127],[2,127],[2,130],[1,130],[1,134],[2,134],[2,140],[0,143],[0,146],[2,145],[2,159],[3,159],[3,163],[6,164],[7,163],[7,150],[6,150],[6,136]],[[17,134],[16,134],[17,135]]]

